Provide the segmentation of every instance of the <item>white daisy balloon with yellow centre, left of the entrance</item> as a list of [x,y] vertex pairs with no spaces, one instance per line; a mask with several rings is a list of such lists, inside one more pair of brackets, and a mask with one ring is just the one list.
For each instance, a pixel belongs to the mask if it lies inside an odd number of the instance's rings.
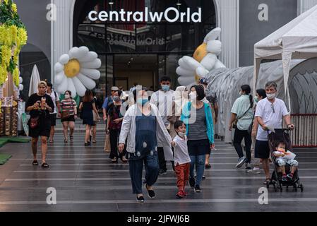
[[55,87],[59,93],[71,91],[72,97],[85,95],[85,91],[95,88],[94,80],[100,78],[101,60],[97,53],[89,51],[88,47],[73,47],[68,54],[59,57],[54,66]]

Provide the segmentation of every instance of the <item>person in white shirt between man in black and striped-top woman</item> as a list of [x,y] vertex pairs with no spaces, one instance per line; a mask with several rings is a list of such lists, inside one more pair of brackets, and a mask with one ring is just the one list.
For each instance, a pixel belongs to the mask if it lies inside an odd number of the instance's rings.
[[52,98],[52,101],[54,103],[54,112],[49,113],[51,117],[51,132],[49,133],[49,143],[54,142],[56,116],[61,117],[61,107],[59,106],[59,94],[56,93],[52,88],[52,83],[47,83],[47,95],[49,95]]

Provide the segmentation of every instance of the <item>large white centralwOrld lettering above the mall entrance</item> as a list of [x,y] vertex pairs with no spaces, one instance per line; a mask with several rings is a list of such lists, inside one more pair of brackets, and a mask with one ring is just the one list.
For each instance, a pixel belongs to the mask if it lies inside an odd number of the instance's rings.
[[180,12],[177,8],[169,7],[164,12],[151,12],[148,7],[144,8],[144,11],[125,11],[121,8],[120,11],[90,11],[88,18],[91,21],[109,21],[109,22],[153,22],[160,23],[162,20],[169,23],[179,21],[181,23],[201,23],[201,8],[198,11],[193,12],[191,8],[187,8],[186,11]]

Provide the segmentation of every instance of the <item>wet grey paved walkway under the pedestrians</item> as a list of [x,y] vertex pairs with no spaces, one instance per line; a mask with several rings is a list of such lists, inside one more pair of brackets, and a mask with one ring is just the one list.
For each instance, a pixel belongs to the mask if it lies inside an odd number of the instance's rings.
[[[205,171],[201,194],[189,190],[188,197],[177,199],[169,164],[167,175],[155,184],[157,197],[145,196],[145,203],[139,204],[131,194],[128,165],[112,164],[104,153],[104,135],[100,132],[91,147],[84,147],[83,136],[76,133],[73,143],[64,144],[57,133],[55,143],[49,144],[49,169],[32,166],[30,143],[1,148],[0,153],[13,157],[0,166],[0,211],[317,211],[317,150],[313,148],[296,150],[304,192],[270,189],[268,205],[258,204],[263,173],[250,175],[235,169],[234,148],[220,140],[211,155],[212,168]],[[56,205],[46,203],[48,187],[56,189]]]

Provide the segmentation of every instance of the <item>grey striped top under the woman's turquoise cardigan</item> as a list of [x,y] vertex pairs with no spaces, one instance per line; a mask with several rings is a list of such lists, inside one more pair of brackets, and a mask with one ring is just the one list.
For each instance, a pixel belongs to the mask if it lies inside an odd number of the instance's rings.
[[189,119],[189,136],[187,138],[191,141],[208,139],[205,107],[201,107],[200,109],[191,107],[191,118]]

